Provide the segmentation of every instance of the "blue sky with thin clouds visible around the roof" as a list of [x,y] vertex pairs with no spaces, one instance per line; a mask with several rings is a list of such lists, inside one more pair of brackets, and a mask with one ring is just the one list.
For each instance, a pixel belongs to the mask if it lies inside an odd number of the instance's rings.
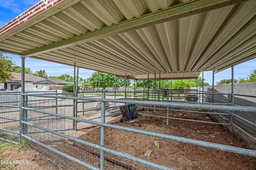
[[[0,27],[8,23],[10,20],[39,2],[39,0],[0,0]],[[12,57],[12,61],[17,66],[21,66],[20,56],[8,54]],[[31,68],[33,72],[38,70],[45,70],[48,76],[60,76],[62,74],[74,74],[74,67],[66,66],[63,64],[57,64],[38,59],[26,58],[25,66]],[[252,59],[242,64],[234,66],[234,78],[246,77],[250,74],[251,70],[256,69],[256,59]],[[82,78],[89,78],[92,75],[93,70],[86,70],[79,68],[79,76]],[[202,77],[202,73],[200,74]],[[218,72],[214,75],[214,84],[217,81],[231,78],[231,68]],[[212,71],[204,72],[204,82],[212,84]]]

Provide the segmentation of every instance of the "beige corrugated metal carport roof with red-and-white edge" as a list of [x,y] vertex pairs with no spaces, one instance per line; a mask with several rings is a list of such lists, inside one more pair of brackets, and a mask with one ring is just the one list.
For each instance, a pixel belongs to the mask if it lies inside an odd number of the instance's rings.
[[0,51],[143,80],[196,78],[256,56],[255,0],[40,1]]

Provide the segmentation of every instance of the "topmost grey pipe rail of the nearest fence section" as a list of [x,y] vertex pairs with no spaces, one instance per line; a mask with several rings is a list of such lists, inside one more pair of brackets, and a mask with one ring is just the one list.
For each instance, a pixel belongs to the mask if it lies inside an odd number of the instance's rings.
[[256,107],[249,106],[223,106],[223,105],[212,105],[212,104],[191,104],[191,103],[178,103],[178,102],[151,102],[141,100],[119,100],[119,99],[102,99],[102,98],[80,98],[80,97],[68,97],[68,96],[45,96],[38,94],[21,94],[23,96],[36,96],[36,97],[48,97],[48,98],[62,98],[72,100],[91,100],[94,102],[113,102],[113,103],[129,103],[129,104],[140,104],[140,105],[152,105],[152,106],[168,106],[168,107],[184,107],[184,108],[195,108],[195,109],[211,109],[211,110],[228,110],[238,112],[250,112],[255,113]]

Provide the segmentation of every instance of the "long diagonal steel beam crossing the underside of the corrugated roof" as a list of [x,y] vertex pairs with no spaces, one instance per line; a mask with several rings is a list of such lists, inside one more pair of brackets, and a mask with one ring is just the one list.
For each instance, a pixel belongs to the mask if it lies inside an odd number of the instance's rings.
[[127,31],[132,31],[142,27],[147,27],[150,25],[155,25],[158,23],[163,23],[170,20],[175,20],[178,18],[184,18],[186,16],[191,16],[194,14],[199,14],[209,10],[214,10],[217,8],[222,8],[225,6],[230,6],[233,4],[238,4],[247,0],[194,0],[186,3],[179,4],[177,6],[172,6],[164,10],[146,14],[144,16],[133,18],[128,21],[123,21],[108,27],[98,29],[89,33],[78,35],[70,39],[66,39],[57,43],[46,45],[38,49],[27,51],[22,53],[22,56],[32,57],[34,55],[46,53],[49,51],[54,51],[62,49],[65,47],[70,47],[72,45],[78,45],[81,43],[86,43],[89,41],[101,39],[104,37],[109,37],[124,33]]

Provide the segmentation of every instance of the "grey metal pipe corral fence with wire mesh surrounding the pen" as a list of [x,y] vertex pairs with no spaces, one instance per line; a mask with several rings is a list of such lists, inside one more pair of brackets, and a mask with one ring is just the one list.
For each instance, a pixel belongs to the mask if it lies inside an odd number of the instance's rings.
[[[108,162],[105,161],[105,155],[113,154],[121,158],[137,162],[138,164],[146,165],[151,168],[156,168],[159,170],[172,170],[172,168],[108,148],[107,146],[105,146],[104,141],[105,127],[256,157],[256,148],[243,149],[228,145],[221,145],[218,143],[199,141],[195,139],[189,139],[151,131],[144,131],[140,129],[111,124],[112,122],[118,120],[118,116],[120,115],[120,106],[123,106],[125,104],[135,104],[138,107],[148,109],[148,106],[151,105],[154,106],[154,109],[162,109],[166,111],[166,116],[150,116],[160,117],[167,120],[177,119],[179,121],[214,123],[224,125],[225,127],[230,128],[232,126],[234,133],[243,133],[249,138],[250,142],[254,144],[256,143],[256,122],[250,121],[247,118],[255,118],[256,107],[238,106],[235,104],[233,106],[230,105],[228,99],[231,98],[227,97],[226,100],[222,100],[221,98],[221,96],[231,95],[229,93],[214,92],[214,99],[212,99],[212,93],[210,92],[200,92],[198,90],[187,91],[188,93],[182,90],[143,90],[136,92],[132,91],[132,93],[130,94],[130,98],[127,97],[129,95],[125,95],[126,93],[128,94],[129,91],[118,92],[116,90],[115,92],[84,90],[82,91],[81,95],[81,92],[78,92],[77,96],[79,97],[70,96],[70,94],[57,94],[57,92],[52,94],[0,93],[0,95],[5,96],[6,98],[2,98],[3,101],[0,101],[0,131],[3,132],[2,134],[5,134],[5,136],[0,136],[0,140],[18,143],[23,139],[26,139],[46,149],[46,151],[44,152],[50,152],[60,155],[63,158],[63,167],[68,166],[64,163],[64,159],[67,159],[72,160],[76,164],[79,164],[79,166],[81,167],[86,167],[89,169],[104,169],[105,166],[109,166]],[[170,92],[174,93],[170,94]],[[198,101],[185,101],[186,95],[188,94],[196,94],[198,96]],[[218,95],[220,95],[220,97],[218,97]],[[249,97],[256,96],[251,95]],[[126,98],[126,100],[124,100],[124,98]],[[154,98],[156,98],[157,101],[154,101]],[[208,102],[214,101],[216,103],[205,103],[205,101],[207,100]],[[232,99],[232,101],[234,102],[234,99]],[[23,104],[21,104],[22,102]],[[74,103],[76,106],[74,106]],[[20,106],[17,106],[16,104],[20,104]],[[159,106],[159,108],[156,108],[155,106]],[[20,110],[17,109],[18,107],[20,107]],[[184,111],[183,109],[179,108],[199,110],[204,109],[207,111],[187,110],[187,112],[195,114],[198,113],[208,115],[220,115],[226,118],[226,122],[223,123],[181,119],[169,115],[169,111]],[[75,114],[73,112],[74,110]],[[234,114],[232,116],[232,121],[230,119],[231,112]],[[246,113],[247,117],[244,117],[244,113]],[[139,114],[148,115],[145,113]],[[74,122],[76,122],[76,124],[74,124]],[[10,125],[12,125],[12,129],[9,128],[11,127]],[[101,127],[100,142],[98,142],[98,144],[77,138],[80,134],[80,129],[90,129],[95,126]],[[248,127],[248,129],[245,129],[245,127]],[[52,137],[49,137],[49,135],[54,135],[56,137],[56,140],[51,142]],[[95,162],[84,162],[79,157],[72,156],[71,154],[67,153],[63,147],[56,147],[56,145],[53,144],[54,142],[60,143],[66,139],[72,142],[76,142],[79,145],[84,145],[91,147],[92,149],[99,150],[100,158],[98,165],[95,166]],[[52,160],[54,161],[54,158],[52,158]]]

